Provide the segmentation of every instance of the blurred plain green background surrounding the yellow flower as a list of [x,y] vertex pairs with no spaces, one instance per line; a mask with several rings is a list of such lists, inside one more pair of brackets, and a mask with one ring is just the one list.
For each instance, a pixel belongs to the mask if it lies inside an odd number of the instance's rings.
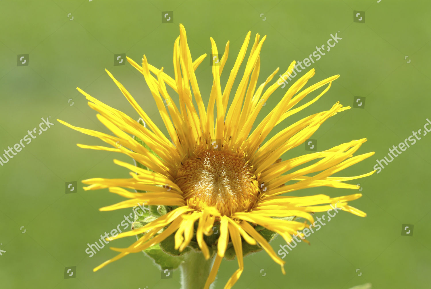
[[[0,167],[0,288],[180,287],[178,270],[172,279],[160,279],[160,271],[141,253],[93,273],[94,267],[116,255],[109,246],[128,246],[134,237],[112,241],[91,258],[85,253],[87,243],[116,228],[130,210],[99,212],[98,208],[122,197],[107,190],[84,192],[80,181],[127,178],[128,170],[112,159],[130,159],[78,148],[76,143],[102,143],[55,119],[107,132],[76,86],[138,118],[106,68],[162,126],[144,77],[130,64],[114,66],[114,54],[126,54],[138,63],[146,54],[150,64],[163,66],[173,76],[173,43],[178,24],[184,23],[194,59],[210,53],[209,37],[221,53],[230,40],[224,86],[251,30],[252,40],[257,32],[267,35],[261,52],[262,83],[276,67],[284,72],[292,60],[303,60],[331,33],[338,33],[342,40],[311,66],[316,74],[309,84],[334,74],[341,77],[324,97],[283,121],[272,135],[338,100],[352,106],[355,96],[365,97],[365,108],[335,115],[312,137],[318,150],[367,137],[357,153],[375,151],[375,156],[337,174],[359,175],[371,171],[376,159],[383,159],[392,145],[403,142],[412,130],[423,129],[425,119],[431,118],[430,9],[429,1],[394,0],[2,0],[0,149],[19,142],[41,118],[49,116],[55,125]],[[365,12],[365,22],[353,21],[354,10]],[[164,11],[173,11],[172,23],[162,23]],[[28,66],[17,66],[19,54],[29,55]],[[243,70],[244,65],[240,73]],[[212,84],[208,58],[197,69],[197,78],[207,100]],[[238,83],[237,79],[234,88]],[[278,89],[272,95],[260,120],[284,92]],[[366,218],[337,214],[308,238],[311,245],[300,243],[284,258],[285,276],[264,251],[246,257],[244,273],[234,288],[347,289],[367,282],[376,289],[429,288],[429,138],[422,137],[379,174],[351,182],[359,183],[364,195],[351,205],[365,211]],[[301,145],[284,158],[304,153],[308,152]],[[65,194],[69,181],[78,181],[77,193]],[[353,192],[313,188],[295,195],[336,197]],[[414,226],[411,235],[401,235],[402,224]],[[278,251],[285,242],[278,237],[271,244]],[[76,278],[64,279],[65,267],[74,266]],[[216,288],[223,288],[236,269],[236,261],[224,260]]]

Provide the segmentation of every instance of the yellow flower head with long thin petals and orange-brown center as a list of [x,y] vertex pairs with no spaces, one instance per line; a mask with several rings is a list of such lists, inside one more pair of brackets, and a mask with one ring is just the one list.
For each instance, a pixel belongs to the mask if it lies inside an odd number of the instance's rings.
[[[99,112],[97,118],[116,135],[114,137],[60,121],[82,133],[100,138],[112,145],[112,148],[81,144],[78,146],[122,152],[149,168],[149,170],[145,170],[114,160],[117,165],[130,169],[132,178],[93,178],[83,181],[85,184],[90,184],[86,190],[108,187],[110,192],[129,199],[100,210],[134,207],[137,206],[137,203],[178,206],[141,228],[119,234],[116,238],[144,235],[128,248],[112,248],[119,251],[120,254],[94,270],[127,254],[140,252],[156,245],[174,233],[175,249],[182,251],[187,248],[194,237],[194,231],[196,231],[196,240],[203,255],[209,259],[209,249],[203,235],[211,235],[212,227],[217,223],[220,224],[217,254],[205,288],[209,288],[214,281],[230,242],[234,247],[239,264],[239,269],[225,286],[225,288],[231,288],[244,268],[242,240],[250,245],[260,245],[275,262],[281,265],[284,273],[284,261],[277,256],[268,241],[256,231],[256,224],[278,233],[289,243],[292,235],[304,228],[309,228],[310,224],[314,222],[312,212],[329,210],[331,205],[337,204],[337,207],[344,211],[357,216],[366,216],[362,211],[347,204],[347,201],[356,200],[362,196],[361,194],[334,198],[323,194],[306,197],[282,196],[284,193],[309,187],[328,186],[357,189],[356,185],[346,184],[344,181],[369,176],[374,171],[353,177],[331,177],[331,175],[368,158],[374,152],[353,156],[359,146],[366,141],[366,139],[361,139],[352,140],[322,152],[313,152],[284,161],[279,159],[289,149],[309,139],[326,119],[350,108],[343,107],[339,102],[328,111],[313,114],[282,129],[261,146],[277,124],[317,101],[328,91],[332,81],[338,78],[338,75],[329,77],[300,91],[315,73],[314,69],[310,70],[290,86],[275,108],[253,129],[259,111],[280,86],[276,81],[263,92],[265,86],[278,73],[277,68],[256,89],[260,67],[259,53],[265,38],[266,36],[260,39],[259,34],[256,35],[244,75],[241,77],[229,109],[229,96],[247,51],[250,32],[245,38],[223,91],[220,85],[220,75],[228,58],[229,42],[226,44],[223,57],[212,65],[213,83],[206,108],[194,72],[206,54],[192,61],[183,25],[180,25],[180,36],[174,44],[174,78],[164,73],[163,68],[157,69],[148,64],[145,55],[142,66],[128,58],[129,63],[144,75],[172,141],[159,130],[111,73],[108,72],[109,76],[145,121],[145,127],[78,88],[90,101],[88,103],[90,107]],[[214,40],[212,38],[210,40],[212,54],[218,55]],[[292,72],[294,65],[295,61],[290,64],[284,74]],[[179,109],[168,94],[166,84],[178,93]],[[314,99],[294,108],[310,92],[325,85],[327,86],[323,92]],[[192,95],[197,103],[197,109],[194,107]],[[214,113],[214,106],[216,113]],[[130,135],[143,140],[160,158],[154,156],[149,149]],[[121,146],[119,147],[118,144]],[[313,160],[318,161],[295,169]],[[312,173],[317,174],[310,176],[309,174]],[[169,190],[166,190],[167,186],[169,186]],[[147,192],[135,193],[124,188]],[[310,224],[272,218],[288,216],[302,217]],[[197,222],[197,229],[194,227],[195,222]],[[162,229],[164,230],[161,232]]]

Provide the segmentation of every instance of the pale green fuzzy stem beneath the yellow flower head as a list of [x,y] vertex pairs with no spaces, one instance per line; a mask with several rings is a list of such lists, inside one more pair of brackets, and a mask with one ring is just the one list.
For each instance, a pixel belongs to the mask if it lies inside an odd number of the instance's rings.
[[183,256],[184,262],[180,265],[181,289],[203,289],[209,272],[211,271],[212,264],[214,264],[214,258],[205,260],[202,252],[196,252],[194,250],[191,250],[190,253],[184,254]]

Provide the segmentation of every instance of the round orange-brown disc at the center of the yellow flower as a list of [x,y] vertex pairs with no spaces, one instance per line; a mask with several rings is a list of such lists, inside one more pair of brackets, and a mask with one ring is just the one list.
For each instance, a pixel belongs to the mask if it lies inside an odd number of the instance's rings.
[[222,215],[250,210],[259,194],[253,167],[242,152],[198,147],[181,162],[175,182],[189,206],[214,206]]

